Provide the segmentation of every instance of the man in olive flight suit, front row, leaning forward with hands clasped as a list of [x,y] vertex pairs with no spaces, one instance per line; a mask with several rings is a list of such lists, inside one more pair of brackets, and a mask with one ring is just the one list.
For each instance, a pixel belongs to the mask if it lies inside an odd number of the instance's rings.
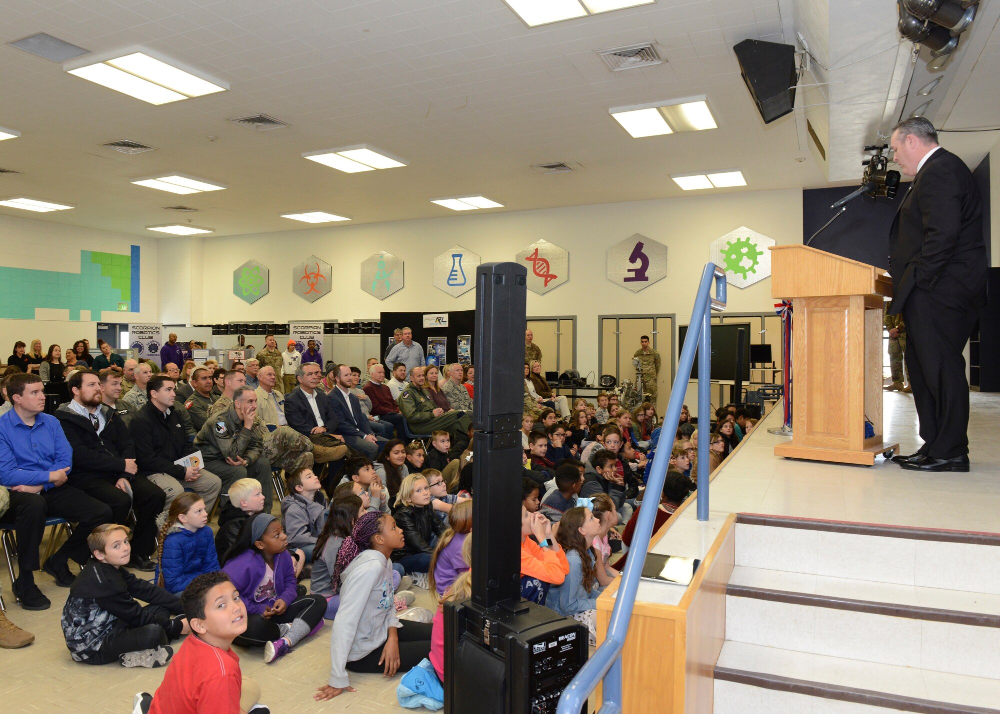
[[[254,478],[264,493],[264,512],[271,512],[271,463],[264,456],[264,443],[253,428],[257,415],[257,393],[243,386],[233,393],[233,406],[205,421],[195,437],[205,468],[222,480],[222,493],[241,478]],[[228,500],[228,499],[227,499]],[[225,504],[223,504],[225,505]]]

